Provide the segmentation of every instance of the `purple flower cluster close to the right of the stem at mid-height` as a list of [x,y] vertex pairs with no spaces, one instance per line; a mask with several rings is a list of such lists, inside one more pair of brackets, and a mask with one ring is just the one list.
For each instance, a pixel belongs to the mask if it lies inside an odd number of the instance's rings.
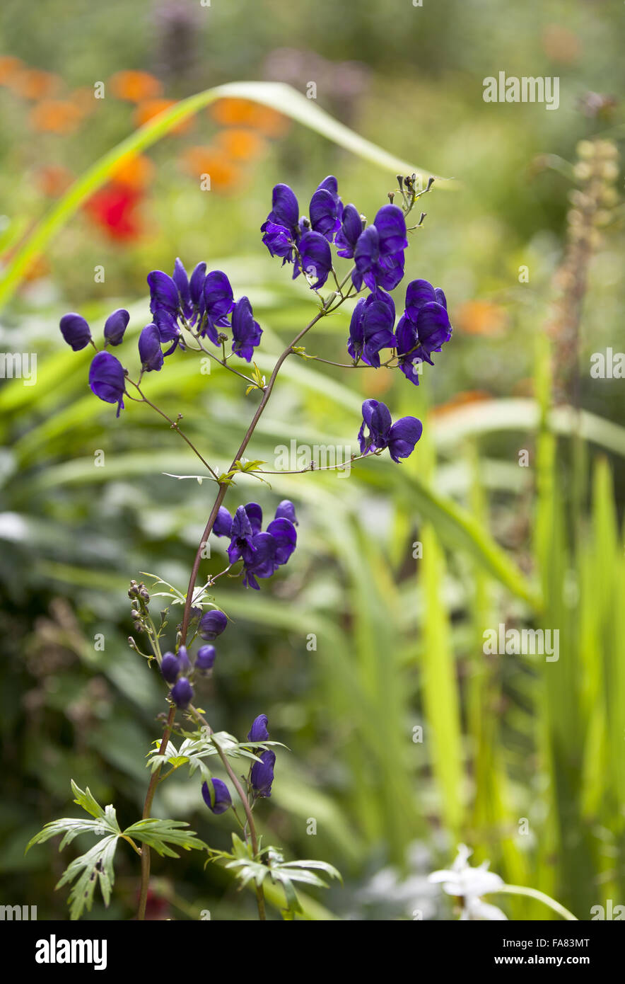
[[[262,510],[256,502],[239,506],[234,517],[221,506],[212,531],[229,536],[228,559],[231,564],[243,561],[243,583],[259,588],[256,578],[270,578],[286,564],[296,547],[298,534],[295,507],[285,499],[275,511],[275,518],[262,531]],[[200,623],[201,627],[201,623]]]

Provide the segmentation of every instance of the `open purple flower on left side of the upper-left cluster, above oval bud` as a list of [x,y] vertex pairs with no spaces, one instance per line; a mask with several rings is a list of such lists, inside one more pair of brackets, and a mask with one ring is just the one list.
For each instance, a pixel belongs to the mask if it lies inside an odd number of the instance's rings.
[[204,313],[203,286],[206,264],[199,263],[191,278],[182,261],[177,259],[173,277],[162,270],[147,275],[149,310],[162,342],[173,342],[165,355],[170,355],[182,343],[179,319],[193,328]]

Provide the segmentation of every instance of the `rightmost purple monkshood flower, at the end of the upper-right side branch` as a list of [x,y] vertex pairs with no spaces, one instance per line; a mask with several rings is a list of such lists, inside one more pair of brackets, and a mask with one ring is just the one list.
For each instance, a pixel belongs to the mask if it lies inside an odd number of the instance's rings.
[[399,367],[411,383],[419,386],[417,367],[423,361],[433,365],[431,353],[439,352],[451,335],[447,301],[440,287],[432,287],[427,280],[412,280],[396,332]]

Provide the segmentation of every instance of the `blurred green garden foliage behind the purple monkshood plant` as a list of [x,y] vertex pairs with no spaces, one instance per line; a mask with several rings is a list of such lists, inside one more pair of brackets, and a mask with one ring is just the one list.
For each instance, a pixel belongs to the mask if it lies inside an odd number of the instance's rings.
[[[236,624],[201,706],[215,729],[239,736],[265,712],[272,737],[289,747],[259,824],[287,858],[324,858],[342,872],[344,889],[312,892],[327,907],[320,917],[411,918],[421,908],[448,918],[423,876],[447,865],[460,838],[507,881],[590,918],[592,905],[622,900],[625,883],[623,383],[588,371],[593,352],[622,338],[620,206],[584,302],[579,397],[594,415],[585,418],[592,441],[574,440],[575,418],[549,415],[543,342],[570,208],[556,158],[574,161],[582,138],[618,141],[625,132],[619,105],[597,117],[580,102],[622,90],[622,5],[261,6],[51,0],[40,18],[17,2],[0,15],[2,51],[57,73],[68,91],[138,69],[180,98],[273,79],[281,68],[300,92],[316,81],[319,105],[358,133],[457,179],[454,192],[434,186],[424,200],[426,222],[407,254],[407,278],[441,285],[455,326],[419,389],[383,370],[341,373],[290,359],[250,452],[272,461],[293,438],[354,447],[371,396],[394,416],[421,416],[425,437],[401,466],[380,459],[349,478],[277,475],[270,490],[238,482],[230,505],[257,499],[271,512],[279,498],[294,500],[299,548],[259,594],[220,587]],[[558,76],[559,109],[484,103],[483,78],[501,69]],[[34,131],[28,110],[0,88],[5,262],[49,206],[41,166],[81,174],[134,126],[132,106],[110,94],[71,135]],[[263,141],[234,186],[207,194],[181,160],[220,129],[201,112],[193,132],[150,150],[141,233],[120,242],[76,215],[1,316],[1,347],[36,351],[38,375],[35,387],[7,381],[0,392],[0,875],[3,903],[37,904],[39,918],[67,917],[62,892],[53,892],[66,861],[49,844],[26,857],[24,848],[45,822],[74,814],[70,777],[114,803],[122,827],[141,813],[144,755],[164,702],[155,672],[126,643],[127,584],[156,571],[184,589],[212,488],[164,476],[197,468],[147,408],[129,406],[116,422],[88,394],[88,356],[62,346],[59,316],[79,310],[99,326],[128,306],[136,337],[147,320],[147,271],[169,271],[177,255],[187,266],[205,259],[228,272],[235,296],[251,297],[264,331],[257,362],[268,373],[312,310],[306,289],[259,240],[271,186],[287,181],[305,211],[318,181],[335,173],[344,201],[369,216],[394,186],[392,175],[294,125]],[[100,265],[104,283],[93,277]],[[398,306],[402,299],[400,288]],[[324,320],[308,350],[345,361],[348,323],[343,311]],[[150,399],[183,413],[202,453],[224,470],[257,396],[243,396],[218,368],[202,375],[191,355],[147,382]],[[519,467],[521,449],[529,468]],[[98,451],[104,467],[95,466]],[[211,545],[207,574],[223,565],[221,541]],[[559,627],[559,661],[484,656],[483,629],[499,622]],[[423,742],[413,741],[416,726]],[[228,846],[228,825],[207,815],[199,782],[168,780],[155,813]],[[135,861],[120,848],[118,891],[91,917],[132,917]],[[154,858],[153,873],[154,914],[254,918],[253,897],[237,896],[225,872],[202,870],[198,858]],[[504,907],[515,918],[548,917],[528,899]]]

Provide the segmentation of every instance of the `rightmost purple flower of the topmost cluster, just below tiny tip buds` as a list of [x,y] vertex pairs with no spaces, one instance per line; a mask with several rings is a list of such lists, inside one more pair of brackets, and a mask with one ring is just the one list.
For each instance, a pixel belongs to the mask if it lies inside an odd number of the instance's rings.
[[406,219],[396,205],[383,205],[372,225],[359,236],[354,250],[357,290],[363,281],[369,290],[392,290],[404,276],[404,250],[408,246]]

